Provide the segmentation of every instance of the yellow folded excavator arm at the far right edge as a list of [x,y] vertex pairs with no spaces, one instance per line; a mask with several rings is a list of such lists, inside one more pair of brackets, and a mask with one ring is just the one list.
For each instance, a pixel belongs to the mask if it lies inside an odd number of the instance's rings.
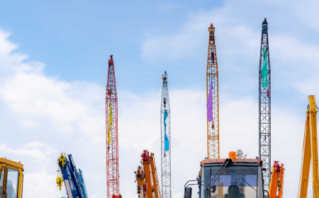
[[315,95],[309,95],[306,111],[306,127],[303,137],[303,159],[301,161],[301,175],[299,180],[298,198],[306,198],[310,162],[313,173],[313,197],[319,198],[318,182],[318,141],[317,141],[317,106]]

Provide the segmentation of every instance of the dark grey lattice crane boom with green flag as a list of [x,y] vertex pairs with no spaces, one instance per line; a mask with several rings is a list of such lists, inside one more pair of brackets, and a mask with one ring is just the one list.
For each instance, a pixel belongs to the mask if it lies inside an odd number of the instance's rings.
[[[266,59],[264,59],[264,50],[267,46]],[[267,78],[262,79],[262,66],[267,61]],[[266,87],[262,86],[262,81],[267,81]],[[264,171],[264,190],[269,189],[271,165],[271,83],[270,83],[270,59],[269,59],[269,44],[268,44],[268,23],[264,18],[262,23],[262,44],[260,47],[259,59],[259,158],[263,161]]]

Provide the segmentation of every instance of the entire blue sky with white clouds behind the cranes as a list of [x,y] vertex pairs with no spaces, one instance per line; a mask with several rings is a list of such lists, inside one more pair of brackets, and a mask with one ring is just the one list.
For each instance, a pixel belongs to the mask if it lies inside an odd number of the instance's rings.
[[65,193],[55,188],[61,151],[72,153],[84,171],[90,198],[105,197],[110,54],[118,87],[123,197],[136,197],[133,170],[142,149],[159,157],[164,71],[172,108],[172,193],[183,197],[184,183],[196,177],[206,156],[211,23],[220,79],[221,156],[237,149],[257,156],[264,17],[272,66],[272,159],[285,164],[285,197],[296,196],[307,96],[319,94],[318,6],[288,0],[0,1],[0,154],[25,164],[23,197]]

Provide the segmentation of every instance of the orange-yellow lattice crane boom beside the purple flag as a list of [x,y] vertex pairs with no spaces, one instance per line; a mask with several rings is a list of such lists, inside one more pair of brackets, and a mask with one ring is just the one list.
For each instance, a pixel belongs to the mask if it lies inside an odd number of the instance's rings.
[[[219,159],[219,100],[218,100],[218,64],[216,57],[215,45],[215,27],[213,23],[208,28],[209,43],[208,43],[208,58],[207,58],[207,73],[206,73],[206,88],[207,100],[210,94],[211,83],[212,100],[213,100],[213,120],[209,122],[207,119],[207,152],[208,159]],[[208,110],[207,110],[208,111]]]

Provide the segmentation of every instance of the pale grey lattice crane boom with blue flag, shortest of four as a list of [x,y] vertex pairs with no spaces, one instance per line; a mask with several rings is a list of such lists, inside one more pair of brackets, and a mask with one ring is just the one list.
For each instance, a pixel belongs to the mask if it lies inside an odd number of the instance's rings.
[[[170,110],[169,110],[169,93],[167,87],[167,74],[162,74],[163,88],[162,88],[162,103],[161,103],[161,168],[162,168],[162,198],[172,198],[171,187],[171,123],[170,123]],[[164,119],[165,110],[167,117]],[[169,149],[165,151],[165,127],[166,134],[169,141]]]

